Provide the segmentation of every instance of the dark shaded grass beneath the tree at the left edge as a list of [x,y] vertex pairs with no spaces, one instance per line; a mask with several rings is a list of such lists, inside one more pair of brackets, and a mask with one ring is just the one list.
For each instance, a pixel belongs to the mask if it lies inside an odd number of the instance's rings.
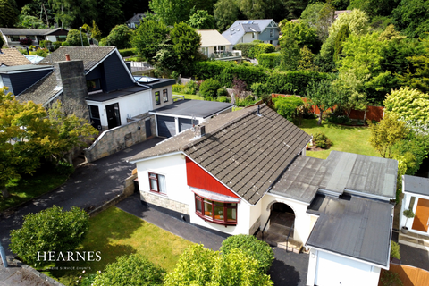
[[68,175],[50,172],[36,173],[33,176],[26,175],[21,179],[10,181],[7,190],[11,196],[9,198],[0,197],[0,212],[60,187],[68,177]]

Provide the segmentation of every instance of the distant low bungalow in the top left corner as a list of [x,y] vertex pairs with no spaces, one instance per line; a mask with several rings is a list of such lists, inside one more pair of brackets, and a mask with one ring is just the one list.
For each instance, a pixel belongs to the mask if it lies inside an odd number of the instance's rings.
[[[4,45],[9,47],[38,46],[40,41],[63,42],[69,33],[68,29],[21,29],[0,28],[0,36],[4,38]],[[22,40],[29,39],[31,44],[22,44]]]

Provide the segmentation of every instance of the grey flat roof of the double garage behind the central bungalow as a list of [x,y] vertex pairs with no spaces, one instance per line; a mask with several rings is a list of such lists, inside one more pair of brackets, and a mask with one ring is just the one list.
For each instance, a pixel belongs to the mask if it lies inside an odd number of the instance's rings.
[[172,105],[166,105],[156,110],[151,110],[150,112],[154,114],[171,114],[207,118],[232,106],[233,104],[225,102],[185,99],[177,101]]

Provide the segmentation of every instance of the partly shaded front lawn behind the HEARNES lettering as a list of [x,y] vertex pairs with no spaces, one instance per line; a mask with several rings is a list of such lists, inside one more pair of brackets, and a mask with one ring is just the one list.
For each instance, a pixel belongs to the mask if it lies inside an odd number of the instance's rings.
[[[43,273],[70,285],[76,281],[82,268],[89,267],[90,269],[86,269],[87,273],[103,271],[105,265],[114,262],[116,257],[131,253],[146,256],[168,272],[172,271],[183,250],[191,244],[188,240],[113,206],[90,219],[88,235],[79,248],[79,251],[100,251],[100,261],[56,263],[49,266],[58,269]],[[74,270],[64,271],[61,267],[74,267]]]

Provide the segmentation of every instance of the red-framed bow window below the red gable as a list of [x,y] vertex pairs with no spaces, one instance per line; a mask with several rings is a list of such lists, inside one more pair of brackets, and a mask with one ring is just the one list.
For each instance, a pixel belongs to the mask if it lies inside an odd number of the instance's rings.
[[195,195],[196,214],[206,221],[219,224],[237,224],[237,204],[216,202]]

